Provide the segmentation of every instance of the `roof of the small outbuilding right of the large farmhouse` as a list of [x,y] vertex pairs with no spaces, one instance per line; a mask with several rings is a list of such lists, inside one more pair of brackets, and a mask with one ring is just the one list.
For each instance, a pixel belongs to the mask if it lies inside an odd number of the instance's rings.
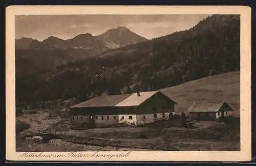
[[225,101],[224,102],[200,102],[193,103],[186,112],[218,112],[222,106],[226,106],[229,110],[233,110]]

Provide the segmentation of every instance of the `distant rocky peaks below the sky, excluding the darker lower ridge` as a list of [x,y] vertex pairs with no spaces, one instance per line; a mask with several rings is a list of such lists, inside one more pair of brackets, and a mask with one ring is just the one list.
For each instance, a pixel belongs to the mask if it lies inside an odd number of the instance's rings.
[[92,34],[80,34],[72,39],[59,39],[54,36],[39,42],[38,40],[31,38],[20,38],[15,40],[16,50],[19,49],[114,49],[123,47],[129,44],[136,44],[147,39],[141,37],[125,26],[117,27],[104,32],[98,36],[92,36]]

